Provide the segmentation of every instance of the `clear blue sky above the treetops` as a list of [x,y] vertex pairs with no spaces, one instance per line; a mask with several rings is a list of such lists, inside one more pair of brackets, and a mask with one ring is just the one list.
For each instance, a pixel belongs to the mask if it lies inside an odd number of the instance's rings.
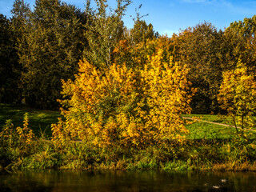
[[[0,13],[10,17],[13,0],[0,0]],[[34,0],[25,0],[33,7]],[[86,0],[64,0],[79,8],[84,8]],[[115,0],[108,0],[114,7]],[[211,22],[218,30],[230,26],[230,22],[251,18],[256,14],[256,0],[132,0],[124,17],[125,25],[130,28],[135,17],[135,8],[142,4],[140,14],[146,16],[146,22],[154,26],[159,34],[168,34],[195,26],[199,22]]]

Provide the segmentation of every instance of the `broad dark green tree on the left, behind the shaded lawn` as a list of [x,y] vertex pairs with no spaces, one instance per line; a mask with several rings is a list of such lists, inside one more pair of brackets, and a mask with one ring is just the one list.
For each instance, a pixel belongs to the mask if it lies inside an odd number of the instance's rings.
[[[86,14],[59,0],[37,0],[19,42],[26,104],[54,109],[61,79],[74,78],[86,46]],[[22,46],[24,45],[24,46]]]

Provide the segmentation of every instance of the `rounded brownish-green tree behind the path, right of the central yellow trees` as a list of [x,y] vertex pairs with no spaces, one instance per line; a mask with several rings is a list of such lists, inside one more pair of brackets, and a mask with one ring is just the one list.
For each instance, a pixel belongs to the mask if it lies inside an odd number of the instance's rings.
[[217,94],[225,63],[222,59],[222,37],[221,30],[203,22],[171,39],[173,47],[170,51],[175,61],[188,65],[188,79],[198,90],[191,102],[193,113],[218,112]]

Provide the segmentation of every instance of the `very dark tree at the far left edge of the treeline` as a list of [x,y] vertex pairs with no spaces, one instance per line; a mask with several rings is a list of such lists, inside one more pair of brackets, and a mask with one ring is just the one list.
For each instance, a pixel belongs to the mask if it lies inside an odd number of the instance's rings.
[[[30,13],[29,4],[22,0],[15,0],[11,10],[13,17],[6,19],[1,14],[1,94],[0,101],[7,103],[18,103],[22,99],[20,89],[20,78],[22,65],[20,64],[18,47],[24,41],[25,24]],[[22,45],[25,47],[25,44]]]

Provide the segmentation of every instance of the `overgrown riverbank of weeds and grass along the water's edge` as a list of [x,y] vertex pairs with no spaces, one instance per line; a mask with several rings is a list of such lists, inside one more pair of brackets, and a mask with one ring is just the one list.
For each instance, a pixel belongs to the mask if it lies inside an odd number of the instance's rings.
[[254,132],[238,135],[232,127],[187,122],[190,134],[184,142],[166,140],[146,147],[99,147],[86,141],[58,145],[43,134],[33,134],[29,117],[22,126],[3,126],[1,169],[256,170]]

